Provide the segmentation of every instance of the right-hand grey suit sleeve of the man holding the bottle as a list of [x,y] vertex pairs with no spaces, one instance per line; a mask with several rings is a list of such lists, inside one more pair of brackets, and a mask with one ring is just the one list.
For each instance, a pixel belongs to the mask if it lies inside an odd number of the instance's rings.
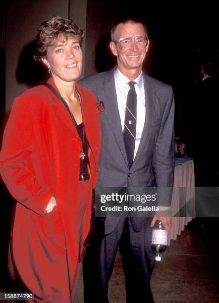
[[153,156],[159,206],[171,206],[174,180],[174,96],[169,88]]

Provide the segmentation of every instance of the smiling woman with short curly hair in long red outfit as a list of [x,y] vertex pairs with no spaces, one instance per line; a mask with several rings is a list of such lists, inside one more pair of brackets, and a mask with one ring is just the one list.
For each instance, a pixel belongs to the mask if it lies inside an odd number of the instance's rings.
[[68,19],[42,23],[35,59],[51,78],[15,99],[4,131],[0,170],[17,201],[9,273],[34,302],[72,302],[89,231],[100,126],[94,95],[76,82],[82,38]]

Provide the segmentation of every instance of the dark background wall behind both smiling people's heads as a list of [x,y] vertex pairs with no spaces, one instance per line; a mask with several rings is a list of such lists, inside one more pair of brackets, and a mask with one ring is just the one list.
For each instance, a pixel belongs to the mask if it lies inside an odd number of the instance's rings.
[[[33,61],[32,44],[42,21],[59,14],[72,18],[85,29],[82,77],[110,69],[115,58],[109,50],[112,23],[122,14],[139,14],[148,26],[150,49],[144,70],[173,86],[176,101],[176,133],[186,89],[196,78],[198,48],[217,60],[219,19],[216,4],[189,1],[124,0],[11,0],[0,38],[6,50],[6,110],[22,91],[46,79],[47,74]],[[4,9],[1,10],[4,15]],[[3,20],[4,18],[1,18]],[[1,21],[2,23],[2,21]],[[4,34],[6,31],[6,40]]]

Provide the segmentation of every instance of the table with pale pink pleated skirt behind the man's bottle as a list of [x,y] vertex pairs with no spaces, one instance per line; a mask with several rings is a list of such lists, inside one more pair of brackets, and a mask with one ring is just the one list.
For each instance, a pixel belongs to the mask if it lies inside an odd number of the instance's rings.
[[185,225],[192,221],[195,216],[195,175],[193,160],[188,155],[175,156],[175,173],[171,211],[173,223],[170,239],[176,240],[177,235],[181,234]]

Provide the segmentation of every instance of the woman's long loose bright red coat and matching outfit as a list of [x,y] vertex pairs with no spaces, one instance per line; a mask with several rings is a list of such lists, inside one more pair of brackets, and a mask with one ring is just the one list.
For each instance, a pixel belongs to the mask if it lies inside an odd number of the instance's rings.
[[[57,90],[51,79],[49,83]],[[78,251],[89,230],[92,183],[95,186],[98,177],[97,100],[86,88],[77,83],[76,87],[92,149],[86,191],[79,190],[80,137],[70,114],[45,86],[15,99],[0,153],[3,181],[17,201],[9,272],[44,302],[72,302],[80,269]],[[57,205],[44,214],[52,196]],[[84,216],[78,210],[82,200]]]

